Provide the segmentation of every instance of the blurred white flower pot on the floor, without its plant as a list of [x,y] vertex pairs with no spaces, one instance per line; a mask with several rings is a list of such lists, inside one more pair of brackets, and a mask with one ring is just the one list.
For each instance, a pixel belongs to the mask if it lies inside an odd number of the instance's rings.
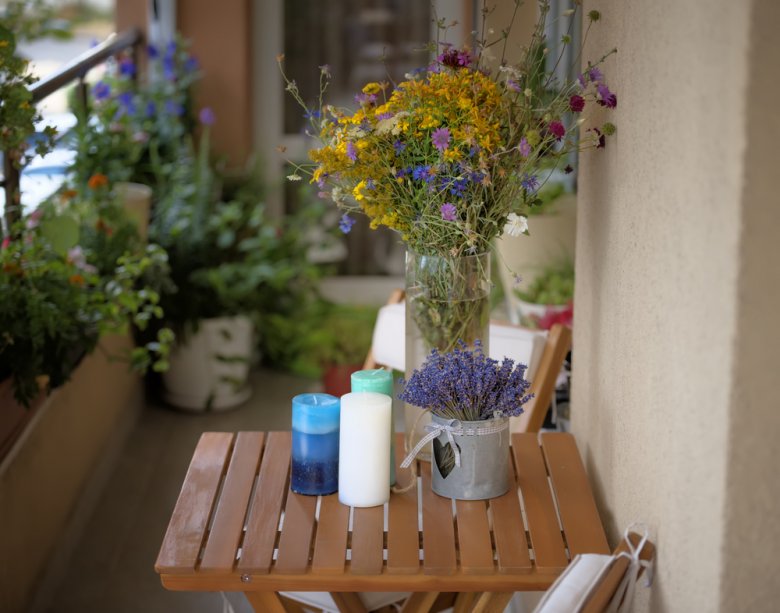
[[171,351],[165,401],[190,411],[224,410],[249,398],[254,334],[247,317],[204,319]]

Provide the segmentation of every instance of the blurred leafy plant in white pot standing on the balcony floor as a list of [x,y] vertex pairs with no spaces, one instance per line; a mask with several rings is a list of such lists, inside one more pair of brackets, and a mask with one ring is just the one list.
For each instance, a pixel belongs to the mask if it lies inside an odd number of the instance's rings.
[[179,338],[164,397],[184,409],[219,410],[249,397],[257,325],[307,286],[310,274],[305,253],[294,249],[295,232],[267,217],[257,173],[236,181],[211,168],[214,118],[200,115],[199,148],[182,147],[160,181],[150,237],[168,251],[176,286],[161,299]]

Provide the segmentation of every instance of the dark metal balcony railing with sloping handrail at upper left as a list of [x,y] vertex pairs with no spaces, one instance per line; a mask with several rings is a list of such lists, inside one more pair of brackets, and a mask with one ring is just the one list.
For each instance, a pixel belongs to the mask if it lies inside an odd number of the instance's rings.
[[[47,98],[54,92],[76,82],[76,97],[84,109],[88,109],[87,73],[104,63],[112,56],[126,49],[133,54],[133,61],[138,60],[138,51],[143,42],[143,34],[138,28],[131,28],[119,34],[112,34],[102,43],[89,51],[82,53],[55,73],[41,79],[30,87],[34,104]],[[6,228],[18,221],[22,216],[21,192],[19,188],[20,169],[13,163],[12,156],[8,152],[3,155],[3,178],[0,185],[5,190],[5,221]]]

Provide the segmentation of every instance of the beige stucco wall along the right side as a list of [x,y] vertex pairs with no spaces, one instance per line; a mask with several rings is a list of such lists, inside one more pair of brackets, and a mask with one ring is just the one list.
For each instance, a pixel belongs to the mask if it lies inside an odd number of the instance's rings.
[[777,3],[587,4],[619,106],[582,156],[573,429],[613,542],[657,541],[637,611],[776,610]]

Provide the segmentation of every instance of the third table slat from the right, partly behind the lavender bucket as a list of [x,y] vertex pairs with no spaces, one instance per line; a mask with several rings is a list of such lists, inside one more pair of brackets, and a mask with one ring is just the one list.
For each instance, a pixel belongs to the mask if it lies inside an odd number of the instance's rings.
[[520,511],[520,499],[517,495],[515,471],[512,460],[508,462],[509,491],[490,501],[493,514],[493,535],[498,553],[498,571],[500,573],[531,572],[531,557],[528,554],[528,541],[525,538],[525,526]]

